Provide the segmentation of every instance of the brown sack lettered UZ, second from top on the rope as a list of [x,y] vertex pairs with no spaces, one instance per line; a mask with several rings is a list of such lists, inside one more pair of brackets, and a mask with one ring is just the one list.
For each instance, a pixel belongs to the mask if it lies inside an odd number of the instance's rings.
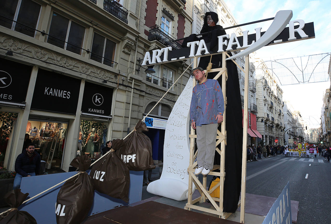
[[130,172],[115,152],[108,153],[94,164],[90,177],[94,189],[100,193],[129,201]]

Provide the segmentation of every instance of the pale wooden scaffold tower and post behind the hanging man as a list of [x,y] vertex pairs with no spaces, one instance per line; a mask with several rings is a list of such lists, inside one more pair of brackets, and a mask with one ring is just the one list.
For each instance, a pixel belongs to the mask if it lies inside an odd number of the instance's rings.
[[[217,129],[216,135],[216,148],[215,150],[220,155],[220,165],[214,165],[213,169],[208,175],[213,175],[219,177],[220,181],[218,184],[213,186],[211,189],[207,190],[207,176],[203,176],[203,182],[201,183],[198,177],[194,174],[195,168],[197,167],[197,162],[195,161],[197,157],[197,151],[194,153],[195,139],[197,135],[195,134],[195,129],[191,127],[190,137],[190,159],[189,167],[187,169],[189,173],[189,183],[188,183],[188,201],[184,207],[187,210],[196,209],[208,213],[218,215],[220,218],[226,219],[231,213],[223,212],[223,195],[224,195],[224,180],[225,176],[225,145],[226,145],[226,130],[225,130],[225,117],[226,117],[226,81],[227,81],[227,69],[226,69],[226,56],[229,55],[226,52],[222,52],[222,68],[211,69],[210,72],[218,72],[213,79],[222,79],[222,94],[224,97],[224,113],[223,113],[223,122],[221,125],[221,131]],[[232,60],[239,69],[245,73],[245,93],[244,93],[244,127],[247,127],[247,114],[248,114],[248,55],[245,57],[245,70],[241,68],[234,60]],[[198,57],[194,57],[193,68],[198,67]],[[206,70],[205,70],[206,72]],[[193,83],[193,86],[196,85],[196,82]],[[243,158],[242,158],[242,183],[241,183],[241,200],[238,203],[238,207],[241,206],[240,220],[241,223],[244,223],[244,214],[245,214],[245,193],[246,193],[246,144],[247,144],[247,129],[243,130]],[[199,150],[199,149],[198,149]],[[216,172],[216,170],[220,170]],[[197,190],[200,193],[200,197],[193,199],[193,184],[195,184]],[[219,187],[219,198],[212,197],[210,194]],[[209,199],[213,207],[205,208],[199,205],[195,205],[196,202],[205,202],[206,199]],[[219,202],[217,204],[216,202]]]

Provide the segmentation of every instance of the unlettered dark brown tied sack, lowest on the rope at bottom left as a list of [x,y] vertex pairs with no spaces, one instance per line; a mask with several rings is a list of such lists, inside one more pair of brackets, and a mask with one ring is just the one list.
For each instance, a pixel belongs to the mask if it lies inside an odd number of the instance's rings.
[[19,211],[17,208],[24,202],[29,193],[22,193],[21,189],[8,191],[4,198],[12,207],[12,210],[0,216],[1,224],[37,224],[36,220],[26,211]]

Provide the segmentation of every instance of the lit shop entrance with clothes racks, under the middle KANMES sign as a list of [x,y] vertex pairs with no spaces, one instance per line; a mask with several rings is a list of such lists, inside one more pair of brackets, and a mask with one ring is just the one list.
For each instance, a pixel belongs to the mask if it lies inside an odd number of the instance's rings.
[[[28,120],[25,134],[29,134],[41,160],[48,161],[48,173],[61,171],[67,123]],[[24,146],[23,146],[24,148]],[[52,150],[53,149],[53,150]]]

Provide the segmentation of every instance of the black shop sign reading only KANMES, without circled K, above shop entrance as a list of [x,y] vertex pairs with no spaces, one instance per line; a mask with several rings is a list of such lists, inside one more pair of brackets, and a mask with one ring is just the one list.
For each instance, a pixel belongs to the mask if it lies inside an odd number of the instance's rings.
[[38,70],[31,109],[76,114],[80,80]]

